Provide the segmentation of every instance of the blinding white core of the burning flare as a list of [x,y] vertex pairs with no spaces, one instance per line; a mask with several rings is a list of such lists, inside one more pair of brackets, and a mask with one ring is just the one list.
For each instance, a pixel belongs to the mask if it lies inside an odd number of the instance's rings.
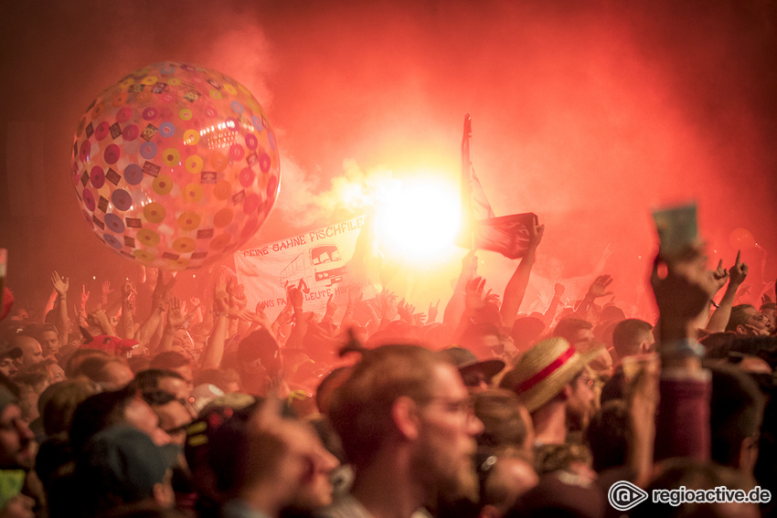
[[403,178],[385,185],[376,204],[381,251],[402,262],[430,263],[455,253],[462,206],[458,185],[440,178]]

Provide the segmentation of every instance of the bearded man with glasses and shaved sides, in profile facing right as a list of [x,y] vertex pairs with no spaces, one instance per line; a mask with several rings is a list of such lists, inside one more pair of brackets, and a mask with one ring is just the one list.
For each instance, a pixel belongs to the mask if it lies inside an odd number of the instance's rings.
[[333,518],[408,518],[439,497],[477,499],[474,436],[483,424],[456,367],[426,349],[367,351],[330,416],[356,476]]

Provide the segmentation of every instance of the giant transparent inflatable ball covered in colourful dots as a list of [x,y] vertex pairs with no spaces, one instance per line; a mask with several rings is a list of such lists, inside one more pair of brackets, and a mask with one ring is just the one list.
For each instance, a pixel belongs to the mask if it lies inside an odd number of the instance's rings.
[[154,63],[103,91],[81,117],[72,180],[87,224],[116,253],[198,268],[244,244],[278,196],[278,146],[238,81]]

